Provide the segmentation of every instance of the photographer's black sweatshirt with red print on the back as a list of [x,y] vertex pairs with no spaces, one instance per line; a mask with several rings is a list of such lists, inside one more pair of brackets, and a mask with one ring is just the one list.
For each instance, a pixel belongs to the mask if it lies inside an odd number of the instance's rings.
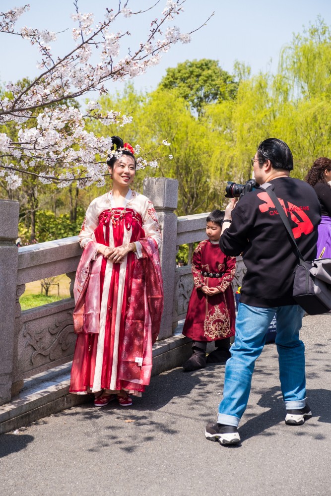
[[[269,181],[292,226],[305,260],[316,257],[321,207],[314,189],[290,177]],[[247,272],[240,301],[253,307],[295,305],[293,271],[298,261],[285,226],[264,189],[246,193],[232,211],[232,223],[220,239],[226,255],[243,252]]]

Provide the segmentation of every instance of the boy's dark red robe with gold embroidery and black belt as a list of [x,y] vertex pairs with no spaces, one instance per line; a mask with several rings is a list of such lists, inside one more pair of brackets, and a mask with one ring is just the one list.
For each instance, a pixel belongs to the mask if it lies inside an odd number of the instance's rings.
[[[193,341],[216,341],[235,334],[235,304],[231,287],[236,270],[236,257],[225,255],[218,242],[204,240],[194,250],[191,294],[183,334]],[[208,277],[204,274],[219,274]],[[199,288],[218,288],[220,293],[208,296]]]

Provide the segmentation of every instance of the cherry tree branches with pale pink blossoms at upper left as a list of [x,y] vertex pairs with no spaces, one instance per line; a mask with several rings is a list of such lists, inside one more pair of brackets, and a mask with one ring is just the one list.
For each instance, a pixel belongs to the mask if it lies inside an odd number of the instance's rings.
[[[64,56],[54,56],[50,44],[59,33],[22,27],[17,20],[30,5],[13,7],[0,12],[0,32],[22,39],[39,51],[39,75],[20,84],[9,82],[0,96],[0,178],[7,187],[15,189],[22,175],[32,175],[43,184],[78,187],[97,183],[103,186],[107,173],[107,157],[111,151],[110,137],[98,137],[85,129],[87,119],[104,124],[124,126],[132,117],[116,110],[103,112],[97,101],[89,101],[86,112],[72,105],[72,99],[97,91],[107,93],[108,81],[133,78],[156,65],[163,53],[177,42],[189,43],[191,35],[181,33],[172,23],[183,12],[186,0],[168,0],[158,18],[151,21],[145,40],[121,58],[121,42],[130,36],[116,30],[121,16],[138,16],[158,7],[161,0],[145,10],[132,11],[129,0],[118,2],[118,8],[106,9],[105,18],[95,22],[92,13],[81,13],[75,0],[71,15],[73,47]],[[208,19],[202,24],[204,25]],[[95,56],[98,62],[93,63]],[[32,125],[31,125],[32,122]],[[29,123],[29,124],[27,124]],[[14,126],[14,132],[13,132]],[[139,146],[135,146],[139,155]],[[138,167],[155,167],[138,156]]]

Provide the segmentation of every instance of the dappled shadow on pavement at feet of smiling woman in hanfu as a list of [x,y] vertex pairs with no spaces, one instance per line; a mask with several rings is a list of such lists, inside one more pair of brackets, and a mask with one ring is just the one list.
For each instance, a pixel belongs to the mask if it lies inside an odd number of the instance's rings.
[[[95,407],[93,403],[85,403],[55,416],[76,418],[81,431],[88,435],[93,431],[102,432],[100,444],[86,447],[89,452],[99,452],[117,445],[122,451],[134,453],[141,448],[141,443],[153,441],[160,436],[168,438],[180,434],[178,426],[181,419],[188,416],[187,409],[183,406],[183,397],[188,397],[190,414],[198,416],[207,395],[213,394],[207,391],[206,385],[206,377],[173,369],[152,377],[142,397],[133,397],[131,408],[121,407],[116,400],[102,408]],[[194,400],[191,393],[195,388],[199,393]],[[155,415],[155,412],[170,402],[172,407],[169,412],[166,410],[162,416]],[[179,419],[178,422],[176,419]]]

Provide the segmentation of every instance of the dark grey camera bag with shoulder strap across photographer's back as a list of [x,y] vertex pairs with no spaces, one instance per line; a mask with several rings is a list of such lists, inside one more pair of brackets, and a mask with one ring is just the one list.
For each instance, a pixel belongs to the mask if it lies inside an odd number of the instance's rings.
[[298,265],[294,269],[293,298],[310,315],[318,315],[331,310],[331,258],[303,259],[295,242],[290,223],[277,196],[269,183],[260,186],[265,189],[283,221]]

